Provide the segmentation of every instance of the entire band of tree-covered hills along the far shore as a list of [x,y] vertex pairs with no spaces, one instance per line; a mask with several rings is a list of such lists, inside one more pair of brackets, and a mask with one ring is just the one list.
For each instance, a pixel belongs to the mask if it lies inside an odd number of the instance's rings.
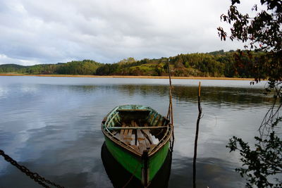
[[[254,64],[262,51],[213,51],[210,53],[178,54],[169,57],[171,75],[176,77],[254,77],[248,64]],[[238,64],[240,59],[240,64]],[[0,65],[0,73],[27,75],[168,75],[168,58],[136,61],[126,58],[118,63],[98,63],[92,60],[38,65]]]

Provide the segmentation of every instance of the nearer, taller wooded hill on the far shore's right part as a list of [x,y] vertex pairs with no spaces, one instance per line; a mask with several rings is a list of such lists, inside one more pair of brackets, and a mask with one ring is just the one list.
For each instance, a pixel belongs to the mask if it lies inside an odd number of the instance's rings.
[[[246,61],[255,61],[263,53],[252,51],[252,57]],[[249,68],[236,68],[234,51],[213,51],[207,54],[179,54],[170,57],[171,75],[173,76],[203,76],[203,77],[252,77]],[[97,68],[97,75],[167,75],[167,58],[142,59],[119,63],[107,63]]]

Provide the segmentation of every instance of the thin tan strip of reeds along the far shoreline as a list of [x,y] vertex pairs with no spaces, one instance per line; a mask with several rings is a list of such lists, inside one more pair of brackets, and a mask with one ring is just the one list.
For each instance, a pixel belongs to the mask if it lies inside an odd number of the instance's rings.
[[[168,76],[123,76],[123,75],[24,75],[24,74],[0,74],[0,76],[34,76],[34,77],[116,77],[116,78],[141,78],[141,79],[168,79]],[[182,80],[254,80],[253,78],[240,77],[171,77]]]

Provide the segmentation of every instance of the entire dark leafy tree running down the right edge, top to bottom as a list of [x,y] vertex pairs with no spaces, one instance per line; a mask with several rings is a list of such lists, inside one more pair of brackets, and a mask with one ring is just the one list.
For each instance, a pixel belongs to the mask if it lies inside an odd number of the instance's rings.
[[[255,137],[254,149],[238,137],[230,139],[227,147],[230,151],[239,151],[243,167],[236,171],[245,177],[247,187],[282,187],[282,141],[277,134],[282,123],[279,115],[282,104],[282,1],[260,0],[262,8],[257,4],[252,7],[254,17],[240,13],[239,4],[240,0],[231,0],[227,15],[221,15],[221,20],[231,25],[231,34],[218,27],[219,37],[245,43],[246,50],[238,50],[235,56],[237,68],[247,67],[256,82],[269,80],[266,90],[274,91],[274,104],[259,127],[260,137]],[[262,51],[262,54],[254,58],[251,50]],[[243,61],[246,56],[252,61]]]

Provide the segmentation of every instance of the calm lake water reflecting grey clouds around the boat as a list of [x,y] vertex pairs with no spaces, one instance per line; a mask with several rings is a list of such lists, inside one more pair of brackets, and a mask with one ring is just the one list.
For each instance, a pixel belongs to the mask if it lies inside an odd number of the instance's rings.
[[[171,169],[165,170],[168,187],[192,187],[199,81],[172,80],[176,140]],[[244,187],[234,170],[238,153],[229,153],[226,144],[233,135],[252,144],[271,104],[271,96],[262,94],[264,84],[202,80],[197,187]],[[100,126],[122,104],[151,106],[166,115],[168,80],[0,77],[0,149],[64,187],[113,187],[103,164],[109,160],[102,161],[107,154]],[[0,187],[40,186],[0,157]]]

